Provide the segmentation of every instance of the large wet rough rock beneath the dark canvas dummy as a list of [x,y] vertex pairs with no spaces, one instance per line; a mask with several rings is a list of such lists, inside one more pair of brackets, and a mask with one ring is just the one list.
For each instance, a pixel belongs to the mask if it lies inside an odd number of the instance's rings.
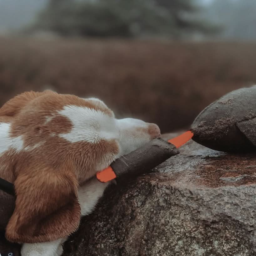
[[256,255],[256,155],[180,152],[110,187],[63,255]]

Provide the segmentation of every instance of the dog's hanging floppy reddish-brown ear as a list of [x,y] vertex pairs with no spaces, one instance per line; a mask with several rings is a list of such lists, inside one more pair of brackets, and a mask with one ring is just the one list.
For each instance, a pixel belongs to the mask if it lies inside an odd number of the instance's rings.
[[15,210],[6,228],[9,241],[49,242],[78,228],[80,205],[74,174],[44,168],[19,174],[14,185]]

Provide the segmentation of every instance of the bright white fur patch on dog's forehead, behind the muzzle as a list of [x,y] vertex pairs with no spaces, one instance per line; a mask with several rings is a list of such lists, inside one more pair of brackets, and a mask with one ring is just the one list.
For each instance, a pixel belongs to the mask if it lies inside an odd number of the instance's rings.
[[59,111],[60,115],[67,117],[73,124],[69,133],[60,134],[70,142],[86,141],[97,143],[100,140],[112,140],[119,136],[115,118],[101,111],[75,105],[65,106]]

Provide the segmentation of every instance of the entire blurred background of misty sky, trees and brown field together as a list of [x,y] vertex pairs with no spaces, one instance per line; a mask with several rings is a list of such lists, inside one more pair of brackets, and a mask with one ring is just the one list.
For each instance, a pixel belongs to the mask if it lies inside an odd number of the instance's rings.
[[254,0],[0,0],[0,105],[52,89],[162,132],[188,128],[256,84],[255,13]]

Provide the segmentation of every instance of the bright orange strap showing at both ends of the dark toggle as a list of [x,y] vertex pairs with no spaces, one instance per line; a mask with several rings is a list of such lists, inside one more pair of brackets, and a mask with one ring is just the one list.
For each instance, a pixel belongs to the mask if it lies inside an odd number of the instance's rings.
[[[177,148],[184,145],[187,141],[189,141],[193,137],[193,133],[191,131],[186,131],[182,133],[180,136],[177,136],[168,142],[172,143]],[[103,171],[97,172],[96,177],[100,182],[108,182],[116,178],[116,174],[111,166],[107,167]]]

